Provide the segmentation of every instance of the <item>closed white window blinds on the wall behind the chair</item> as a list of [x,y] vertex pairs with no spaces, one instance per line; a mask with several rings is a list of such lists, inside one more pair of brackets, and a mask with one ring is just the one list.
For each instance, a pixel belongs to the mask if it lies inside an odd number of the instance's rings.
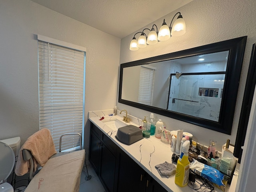
[[[84,66],[85,52],[38,40],[39,126],[57,151],[62,134],[83,132]],[[78,146],[78,136],[62,138],[62,150]]]

